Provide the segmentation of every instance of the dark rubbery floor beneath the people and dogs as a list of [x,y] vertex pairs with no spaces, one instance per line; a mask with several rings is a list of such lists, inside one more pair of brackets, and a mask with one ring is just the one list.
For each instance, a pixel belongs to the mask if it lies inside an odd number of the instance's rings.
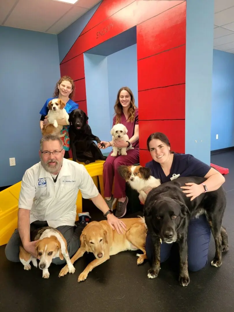
[[[157,279],[149,280],[149,263],[137,266],[135,252],[122,252],[95,268],[87,280],[77,283],[79,273],[90,261],[90,254],[78,260],[74,275],[58,278],[61,266],[50,267],[50,278],[41,278],[41,270],[23,270],[21,263],[10,263],[0,247],[0,311],[5,312],[205,312],[234,311],[233,222],[234,152],[212,155],[211,162],[229,168],[224,188],[227,210],[223,224],[227,228],[229,251],[220,268],[210,266],[214,242],[210,244],[209,263],[190,273],[190,284],[178,284],[178,266],[164,263]],[[90,203],[88,203],[90,205]],[[92,219],[101,213],[89,208]]]

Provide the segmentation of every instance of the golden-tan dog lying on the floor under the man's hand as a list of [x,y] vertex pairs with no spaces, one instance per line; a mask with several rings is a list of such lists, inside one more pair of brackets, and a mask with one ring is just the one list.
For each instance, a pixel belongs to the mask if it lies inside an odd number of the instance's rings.
[[[106,220],[96,222],[92,221],[86,225],[80,236],[80,248],[71,258],[73,264],[77,259],[82,257],[87,252],[92,252],[95,260],[91,261],[80,273],[78,282],[86,280],[90,271],[96,266],[99,266],[110,256],[116,255],[120,251],[138,250],[143,251],[143,254],[137,254],[137,264],[142,264],[147,259],[145,251],[145,240],[147,227],[144,218],[126,218],[126,232],[118,234],[116,230],[112,230]],[[59,277],[64,276],[69,272],[68,266],[64,266],[59,273]]]

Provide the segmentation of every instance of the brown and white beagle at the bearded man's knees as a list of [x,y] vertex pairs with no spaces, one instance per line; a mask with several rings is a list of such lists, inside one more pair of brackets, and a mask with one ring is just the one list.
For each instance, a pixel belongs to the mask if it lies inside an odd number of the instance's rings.
[[[37,257],[40,259],[39,268],[42,270],[42,277],[49,278],[48,271],[52,259],[59,257],[61,260],[65,258],[69,273],[74,273],[75,268],[71,264],[71,260],[67,251],[67,242],[63,235],[53,227],[41,227],[31,233],[31,241],[37,241],[36,251]],[[30,270],[32,264],[37,267],[37,258],[28,253],[23,246],[20,246],[19,259],[24,266],[24,270]]]

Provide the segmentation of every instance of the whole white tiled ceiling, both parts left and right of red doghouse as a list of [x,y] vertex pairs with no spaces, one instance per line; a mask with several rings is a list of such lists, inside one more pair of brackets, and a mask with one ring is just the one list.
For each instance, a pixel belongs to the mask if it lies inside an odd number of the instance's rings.
[[[112,1],[112,0],[109,0]],[[0,0],[0,25],[58,34],[100,0]],[[234,53],[234,0],[214,0],[214,48]]]

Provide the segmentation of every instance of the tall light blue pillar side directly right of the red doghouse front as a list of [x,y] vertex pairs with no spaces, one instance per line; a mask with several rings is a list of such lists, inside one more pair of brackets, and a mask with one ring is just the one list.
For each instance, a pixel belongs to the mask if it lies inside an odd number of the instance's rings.
[[187,0],[185,153],[210,164],[214,0]]

